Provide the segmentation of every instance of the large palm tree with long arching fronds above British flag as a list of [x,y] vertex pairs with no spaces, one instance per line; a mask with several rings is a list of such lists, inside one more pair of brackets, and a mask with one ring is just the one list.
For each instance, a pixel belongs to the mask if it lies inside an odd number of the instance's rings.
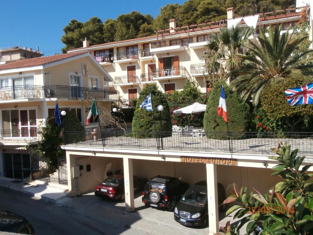
[[252,98],[254,106],[259,104],[259,97],[266,85],[276,83],[290,76],[313,75],[313,50],[296,54],[299,44],[307,37],[296,37],[292,40],[289,29],[281,34],[281,25],[275,29],[270,25],[268,36],[260,29],[259,44],[249,40],[251,47],[246,47],[246,55],[238,55],[243,66],[230,72],[237,76],[232,84],[243,91],[245,100]]

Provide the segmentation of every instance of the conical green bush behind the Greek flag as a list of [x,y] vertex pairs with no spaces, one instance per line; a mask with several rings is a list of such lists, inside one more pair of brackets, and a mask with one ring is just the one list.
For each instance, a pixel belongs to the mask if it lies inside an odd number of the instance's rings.
[[[151,93],[153,112],[147,111],[145,108],[139,108],[139,105],[145,100],[149,93]],[[162,130],[172,131],[170,109],[165,94],[158,90],[155,85],[148,84],[139,94],[132,122],[132,131],[142,132],[139,137],[156,137],[156,131],[160,131],[160,112],[157,110],[157,106],[160,104],[164,107],[162,111]],[[153,120],[153,113],[155,120]]]

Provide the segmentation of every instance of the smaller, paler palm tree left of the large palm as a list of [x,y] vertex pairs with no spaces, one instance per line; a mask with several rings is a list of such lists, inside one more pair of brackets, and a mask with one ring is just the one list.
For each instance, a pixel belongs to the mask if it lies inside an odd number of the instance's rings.
[[225,72],[237,69],[240,65],[238,54],[244,53],[244,45],[254,32],[250,27],[224,27],[219,33],[211,35],[206,45],[206,66],[208,74],[219,74],[222,78]]

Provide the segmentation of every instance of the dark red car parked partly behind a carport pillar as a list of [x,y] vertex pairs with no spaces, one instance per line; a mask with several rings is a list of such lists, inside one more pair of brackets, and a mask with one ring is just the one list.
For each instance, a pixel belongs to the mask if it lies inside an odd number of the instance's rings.
[[[133,176],[134,191],[141,190],[147,182],[147,179]],[[95,188],[95,196],[104,196],[112,200],[120,199],[125,201],[124,175],[110,175],[101,184]]]

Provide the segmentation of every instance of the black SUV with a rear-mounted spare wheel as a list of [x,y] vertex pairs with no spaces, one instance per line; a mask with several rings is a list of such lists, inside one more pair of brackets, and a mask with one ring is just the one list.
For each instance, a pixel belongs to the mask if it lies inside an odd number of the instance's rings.
[[145,206],[167,207],[169,211],[173,211],[176,202],[187,189],[188,184],[175,177],[157,175],[145,185],[142,202]]

